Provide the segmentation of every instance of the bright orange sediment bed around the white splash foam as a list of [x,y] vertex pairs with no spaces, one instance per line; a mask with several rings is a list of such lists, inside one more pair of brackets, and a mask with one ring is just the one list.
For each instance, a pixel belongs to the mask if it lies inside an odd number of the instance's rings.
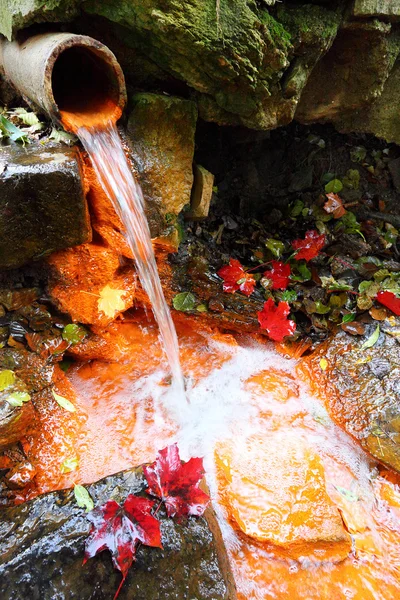
[[[196,331],[187,318],[178,319],[177,329],[193,386],[215,373],[222,378],[224,365],[248,344],[240,336]],[[399,476],[379,474],[354,442],[335,437],[336,426],[309,400],[310,390],[299,387],[291,361],[268,352],[270,367],[255,367],[242,383],[240,372],[235,375],[252,426],[242,436],[223,431],[215,448],[214,501],[233,532],[227,548],[239,599],[397,599]],[[112,324],[97,346],[73,353],[85,362],[67,380],[58,371],[55,386],[77,411],[66,413],[47,396],[43,431],[28,448],[38,491],[151,461],[178,435],[167,408],[153,398],[169,382],[157,329],[144,314]],[[148,392],[139,386],[146,380]],[[345,452],[336,452],[343,444]],[[62,474],[71,456],[78,458],[76,469]]]

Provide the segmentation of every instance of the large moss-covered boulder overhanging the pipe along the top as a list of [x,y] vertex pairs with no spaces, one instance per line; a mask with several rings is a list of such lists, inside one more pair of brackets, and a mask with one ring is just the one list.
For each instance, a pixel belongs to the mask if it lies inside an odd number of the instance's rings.
[[33,22],[67,21],[79,7],[74,26],[115,50],[134,87],[161,85],[171,92],[172,85],[179,93],[172,78],[185,84],[180,83],[182,93],[190,91],[187,86],[194,91],[202,118],[271,129],[293,118],[300,91],[330,47],[342,12],[341,5],[272,4],[24,0],[20,9],[14,2],[3,9],[0,32],[10,38]]

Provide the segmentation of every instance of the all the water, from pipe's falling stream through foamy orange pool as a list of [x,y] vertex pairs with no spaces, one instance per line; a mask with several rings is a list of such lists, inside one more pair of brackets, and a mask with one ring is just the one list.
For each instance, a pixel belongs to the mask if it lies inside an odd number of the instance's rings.
[[[78,135],[125,225],[174,386],[164,383],[156,327],[139,313],[111,325],[115,361],[69,371],[79,410],[32,445],[43,465],[37,492],[152,461],[178,441],[183,459],[204,456],[239,600],[396,600],[398,478],[378,471],[272,344],[177,321],[185,392],[142,192],[118,131],[110,124]],[[60,479],[60,456],[69,453],[78,467]]]

